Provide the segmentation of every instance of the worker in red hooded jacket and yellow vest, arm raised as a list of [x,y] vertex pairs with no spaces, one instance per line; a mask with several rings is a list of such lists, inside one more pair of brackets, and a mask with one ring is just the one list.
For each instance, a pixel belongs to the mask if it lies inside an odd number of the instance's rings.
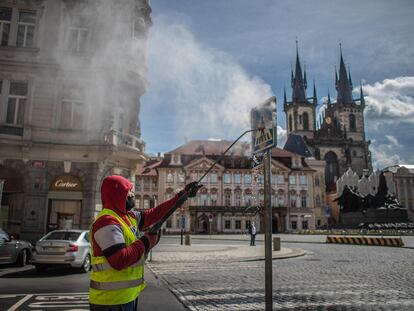
[[90,310],[137,310],[138,296],[146,287],[145,257],[160,239],[160,232],[151,235],[145,230],[166,215],[183,192],[195,197],[200,187],[197,182],[189,183],[168,201],[139,212],[133,210],[133,184],[128,179],[113,175],[103,180],[103,210],[90,229]]

